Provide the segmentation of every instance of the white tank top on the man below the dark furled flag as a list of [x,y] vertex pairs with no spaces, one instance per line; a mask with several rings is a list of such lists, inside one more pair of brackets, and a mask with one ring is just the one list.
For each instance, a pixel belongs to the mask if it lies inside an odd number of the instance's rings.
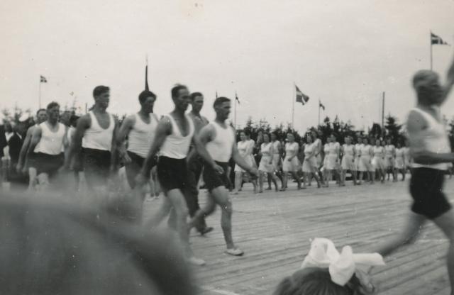
[[151,143],[155,139],[157,116],[154,113],[149,113],[150,123],[145,123],[138,113],[134,115],[135,123],[128,135],[128,151],[140,157],[147,157]]

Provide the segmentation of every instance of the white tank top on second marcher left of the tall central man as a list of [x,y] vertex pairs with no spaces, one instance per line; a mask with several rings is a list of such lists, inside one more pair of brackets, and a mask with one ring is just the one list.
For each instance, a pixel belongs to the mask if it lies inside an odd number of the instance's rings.
[[93,111],[89,111],[92,124],[85,130],[82,138],[82,147],[92,148],[94,150],[108,150],[112,147],[112,136],[114,135],[115,120],[114,116],[109,114],[109,127],[107,129],[99,126],[98,119],[94,116]]

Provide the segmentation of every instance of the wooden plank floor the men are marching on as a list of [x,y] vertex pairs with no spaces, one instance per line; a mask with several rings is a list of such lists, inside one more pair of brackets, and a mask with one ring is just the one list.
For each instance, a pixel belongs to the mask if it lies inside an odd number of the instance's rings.
[[[252,188],[233,199],[233,238],[243,257],[223,253],[220,210],[206,222],[215,230],[206,237],[192,233],[191,243],[206,266],[195,267],[204,295],[271,294],[278,282],[299,268],[309,239],[330,238],[338,248],[351,245],[367,252],[372,245],[399,232],[411,203],[405,182],[353,187],[311,188],[253,194]],[[445,192],[454,196],[454,180]],[[206,192],[201,191],[204,203]],[[147,202],[153,213],[159,201]],[[372,274],[380,294],[449,294],[445,269],[448,242],[427,223],[414,245],[387,257]]]

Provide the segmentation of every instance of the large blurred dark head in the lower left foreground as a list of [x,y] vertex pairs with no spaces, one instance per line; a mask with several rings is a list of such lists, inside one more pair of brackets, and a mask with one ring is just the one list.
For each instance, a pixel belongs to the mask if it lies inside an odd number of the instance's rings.
[[51,198],[0,199],[0,294],[195,294],[166,235]]

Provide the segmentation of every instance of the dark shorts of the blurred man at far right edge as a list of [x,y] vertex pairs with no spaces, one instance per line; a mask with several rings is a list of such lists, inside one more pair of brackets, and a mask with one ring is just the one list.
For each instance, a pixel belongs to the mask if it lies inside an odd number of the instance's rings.
[[450,210],[451,205],[442,191],[445,181],[444,174],[443,170],[438,169],[413,169],[410,194],[414,202],[411,211],[433,219]]

